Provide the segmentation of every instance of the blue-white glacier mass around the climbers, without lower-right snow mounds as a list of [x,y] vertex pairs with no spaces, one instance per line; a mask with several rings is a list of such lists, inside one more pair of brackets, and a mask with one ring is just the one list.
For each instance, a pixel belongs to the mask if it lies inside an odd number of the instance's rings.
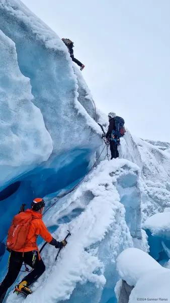
[[[106,117],[56,33],[19,0],[0,0],[0,37],[0,240],[36,196],[55,203],[44,215],[53,236],[71,231],[57,262],[54,247],[43,249],[46,271],[26,301],[115,303],[118,255],[129,247],[148,252],[142,224],[170,207],[170,145],[127,130],[121,159],[105,160],[96,120],[105,127]],[[1,279],[7,259],[2,244]],[[8,293],[14,301],[23,298]]]

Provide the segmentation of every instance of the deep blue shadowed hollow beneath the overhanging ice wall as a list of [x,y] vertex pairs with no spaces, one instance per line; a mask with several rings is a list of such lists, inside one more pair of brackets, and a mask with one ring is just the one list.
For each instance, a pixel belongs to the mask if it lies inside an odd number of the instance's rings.
[[[4,192],[9,196],[0,201],[0,220],[3,226],[0,230],[0,239],[6,237],[11,221],[23,203],[26,204],[26,208],[30,208],[36,196],[44,197],[57,192],[83,177],[87,172],[90,157],[91,150],[88,149],[72,150],[69,154],[65,153],[57,158],[52,155],[45,164],[19,176],[20,186],[12,195],[10,188],[13,186],[6,187]],[[71,220],[73,216],[77,214],[73,212],[70,219],[65,219],[65,222]],[[4,252],[4,248],[0,248],[1,259]]]

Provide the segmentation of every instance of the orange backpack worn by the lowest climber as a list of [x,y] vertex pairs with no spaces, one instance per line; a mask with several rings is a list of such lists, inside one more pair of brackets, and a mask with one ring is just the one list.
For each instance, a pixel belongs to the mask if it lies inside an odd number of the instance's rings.
[[7,247],[12,250],[24,248],[31,221],[34,217],[24,212],[19,213],[13,219],[8,231]]

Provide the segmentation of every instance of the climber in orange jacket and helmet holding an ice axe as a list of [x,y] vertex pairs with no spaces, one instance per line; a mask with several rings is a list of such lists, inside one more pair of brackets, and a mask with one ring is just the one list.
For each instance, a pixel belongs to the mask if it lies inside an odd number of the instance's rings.
[[36,243],[38,235],[49,244],[54,245],[55,248],[61,248],[67,244],[66,240],[58,242],[48,232],[42,221],[44,207],[45,201],[42,198],[36,198],[31,204],[31,209],[20,212],[13,219],[7,238],[7,249],[11,252],[9,270],[0,285],[0,303],[3,302],[8,288],[17,279],[23,262],[32,267],[33,271],[16,286],[17,293],[21,292],[26,296],[32,293],[28,286],[34,283],[45,271],[45,265]]

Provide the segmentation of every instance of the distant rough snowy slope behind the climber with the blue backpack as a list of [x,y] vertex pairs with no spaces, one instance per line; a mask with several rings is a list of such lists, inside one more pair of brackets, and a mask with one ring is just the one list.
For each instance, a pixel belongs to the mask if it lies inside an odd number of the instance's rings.
[[142,222],[170,206],[170,154],[156,145],[132,136],[128,130],[121,142],[120,157],[136,163],[141,170]]

